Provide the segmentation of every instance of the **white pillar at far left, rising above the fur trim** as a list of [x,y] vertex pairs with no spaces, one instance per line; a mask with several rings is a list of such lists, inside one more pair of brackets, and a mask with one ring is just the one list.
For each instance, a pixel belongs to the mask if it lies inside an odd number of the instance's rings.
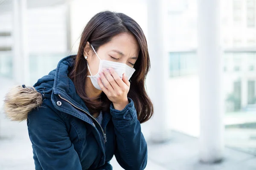
[[18,83],[29,83],[26,0],[13,0],[13,78]]

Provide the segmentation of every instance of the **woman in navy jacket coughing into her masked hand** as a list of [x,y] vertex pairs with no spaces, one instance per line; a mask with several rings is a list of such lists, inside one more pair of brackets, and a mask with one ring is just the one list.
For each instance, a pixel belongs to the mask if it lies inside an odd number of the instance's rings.
[[[145,91],[150,68],[140,26],[104,11],[85,26],[77,55],[68,56],[33,87],[13,88],[4,109],[27,119],[36,170],[143,170],[147,144],[140,123],[153,114]],[[130,79],[130,80],[129,80]]]

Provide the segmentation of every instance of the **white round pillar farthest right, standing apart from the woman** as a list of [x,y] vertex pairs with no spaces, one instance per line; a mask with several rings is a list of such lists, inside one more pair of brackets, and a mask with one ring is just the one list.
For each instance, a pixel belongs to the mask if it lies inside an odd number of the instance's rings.
[[220,0],[198,0],[200,161],[222,160],[224,99],[221,85]]

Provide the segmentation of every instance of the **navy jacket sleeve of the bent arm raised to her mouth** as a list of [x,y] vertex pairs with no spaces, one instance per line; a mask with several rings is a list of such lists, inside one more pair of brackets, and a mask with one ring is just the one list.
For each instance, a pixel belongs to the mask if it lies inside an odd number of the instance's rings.
[[113,104],[110,107],[116,133],[115,156],[125,170],[143,170],[147,164],[147,143],[141,132],[134,102],[130,98],[128,100],[129,104],[122,111],[115,110]]

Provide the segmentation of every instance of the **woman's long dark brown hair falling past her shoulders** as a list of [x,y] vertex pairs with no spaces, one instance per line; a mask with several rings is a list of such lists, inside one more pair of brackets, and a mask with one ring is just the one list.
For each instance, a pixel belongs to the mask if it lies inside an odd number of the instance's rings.
[[138,23],[131,17],[111,11],[102,11],[92,17],[81,34],[78,54],[74,59],[74,67],[69,77],[73,80],[78,95],[84,100],[91,113],[100,110],[109,111],[111,101],[104,93],[97,97],[101,99],[100,101],[86,95],[87,60],[84,59],[84,47],[88,41],[97,51],[101,45],[111,41],[112,37],[125,32],[133,34],[140,46],[139,58],[134,65],[136,71],[130,79],[128,97],[134,101],[138,120],[143,123],[151,118],[154,111],[153,104],[145,91],[145,78],[150,69],[150,60],[145,35]]

